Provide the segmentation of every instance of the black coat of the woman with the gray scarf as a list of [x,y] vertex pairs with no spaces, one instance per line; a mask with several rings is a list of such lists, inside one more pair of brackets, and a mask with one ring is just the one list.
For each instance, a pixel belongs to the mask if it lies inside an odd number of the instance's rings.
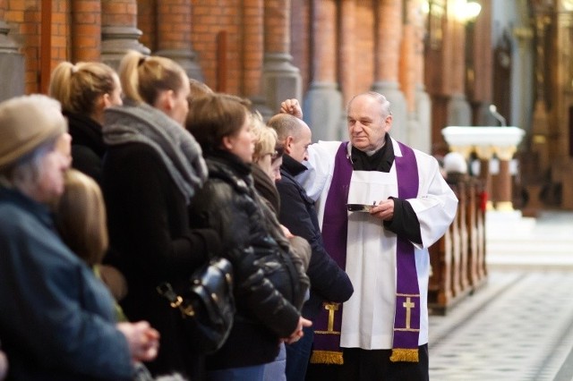
[[108,260],[125,275],[128,294],[122,301],[132,321],[145,319],[161,334],[154,374],[178,371],[201,378],[201,357],[192,354],[179,326],[181,317],[161,298],[156,286],[178,283],[218,253],[218,235],[191,230],[184,195],[158,153],[141,143],[110,146],[103,165],[110,243]]

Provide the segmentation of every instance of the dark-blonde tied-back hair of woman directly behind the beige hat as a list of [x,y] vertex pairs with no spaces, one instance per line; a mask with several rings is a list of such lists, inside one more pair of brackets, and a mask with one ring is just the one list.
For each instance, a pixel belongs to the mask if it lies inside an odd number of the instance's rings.
[[59,63],[50,76],[48,94],[60,101],[66,112],[92,115],[98,97],[115,90],[115,75],[106,63]]

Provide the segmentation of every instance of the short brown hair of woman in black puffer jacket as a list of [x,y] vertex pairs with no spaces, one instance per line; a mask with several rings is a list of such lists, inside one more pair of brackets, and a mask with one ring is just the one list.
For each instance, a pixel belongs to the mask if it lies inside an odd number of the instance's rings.
[[251,102],[242,97],[212,94],[199,97],[189,105],[185,128],[199,142],[204,152],[220,148],[223,138],[241,130],[250,114]]

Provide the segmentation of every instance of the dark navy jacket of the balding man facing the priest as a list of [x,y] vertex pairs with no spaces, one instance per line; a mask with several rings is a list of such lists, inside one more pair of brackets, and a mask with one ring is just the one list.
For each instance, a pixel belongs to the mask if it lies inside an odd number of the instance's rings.
[[343,302],[350,299],[354,288],[346,272],[338,267],[324,249],[321,228],[314,202],[295,175],[306,168],[292,157],[285,155],[280,167],[281,180],[277,182],[280,195],[278,220],[291,233],[299,235],[311,244],[312,256],[306,271],[311,279],[311,298],[304,303],[304,318],[316,318],[323,301]]

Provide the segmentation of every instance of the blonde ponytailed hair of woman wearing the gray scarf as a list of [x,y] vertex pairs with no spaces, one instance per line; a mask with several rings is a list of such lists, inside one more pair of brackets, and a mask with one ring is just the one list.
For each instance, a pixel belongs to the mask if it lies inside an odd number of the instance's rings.
[[118,72],[125,97],[150,106],[155,104],[160,91],[179,92],[189,86],[187,74],[179,63],[158,55],[142,55],[135,50],[124,55]]

